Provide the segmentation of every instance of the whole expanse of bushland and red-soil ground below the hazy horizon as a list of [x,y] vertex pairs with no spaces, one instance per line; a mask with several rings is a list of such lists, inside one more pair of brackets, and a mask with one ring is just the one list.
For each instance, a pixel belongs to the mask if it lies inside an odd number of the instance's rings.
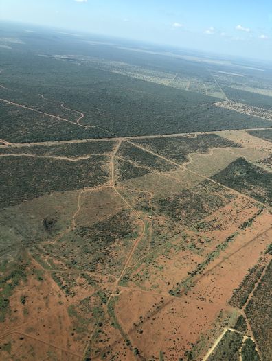
[[1,31],[0,360],[271,360],[271,70]]

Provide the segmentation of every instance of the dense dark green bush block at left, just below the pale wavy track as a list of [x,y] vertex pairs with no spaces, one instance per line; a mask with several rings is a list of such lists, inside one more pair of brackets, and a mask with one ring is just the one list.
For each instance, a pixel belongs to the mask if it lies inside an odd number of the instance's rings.
[[0,207],[49,194],[101,185],[109,179],[107,156],[82,161],[7,156],[0,159]]

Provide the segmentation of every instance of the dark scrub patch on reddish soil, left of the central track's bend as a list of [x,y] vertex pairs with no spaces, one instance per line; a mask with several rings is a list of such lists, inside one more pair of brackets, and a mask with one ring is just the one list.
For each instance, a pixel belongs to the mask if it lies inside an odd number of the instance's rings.
[[47,257],[58,259],[65,267],[117,275],[135,237],[133,218],[120,211],[92,226],[78,226],[56,243],[46,244],[45,250]]

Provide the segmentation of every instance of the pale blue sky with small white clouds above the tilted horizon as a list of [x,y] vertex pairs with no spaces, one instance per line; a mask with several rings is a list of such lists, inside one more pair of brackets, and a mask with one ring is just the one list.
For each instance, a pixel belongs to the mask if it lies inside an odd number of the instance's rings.
[[0,20],[272,60],[272,0],[0,0]]

